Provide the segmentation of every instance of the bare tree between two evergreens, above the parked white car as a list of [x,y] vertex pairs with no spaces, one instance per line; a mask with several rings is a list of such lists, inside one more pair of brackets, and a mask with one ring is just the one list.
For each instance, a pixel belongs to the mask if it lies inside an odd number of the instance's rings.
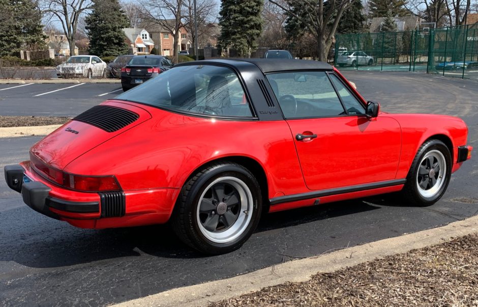
[[70,55],[75,55],[76,31],[80,16],[91,8],[91,0],[46,0],[46,14],[52,14],[62,24],[70,46]]

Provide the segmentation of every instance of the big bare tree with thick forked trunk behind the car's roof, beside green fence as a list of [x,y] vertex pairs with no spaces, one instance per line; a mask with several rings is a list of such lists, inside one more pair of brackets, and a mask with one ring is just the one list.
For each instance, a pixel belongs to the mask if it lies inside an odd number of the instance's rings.
[[[282,4],[278,0],[269,1],[294,16],[306,27],[307,31],[317,39],[319,60],[326,62],[340,18],[352,2],[350,0],[288,0],[286,4]],[[324,2],[326,2],[325,6]],[[298,11],[301,13],[296,13]]]

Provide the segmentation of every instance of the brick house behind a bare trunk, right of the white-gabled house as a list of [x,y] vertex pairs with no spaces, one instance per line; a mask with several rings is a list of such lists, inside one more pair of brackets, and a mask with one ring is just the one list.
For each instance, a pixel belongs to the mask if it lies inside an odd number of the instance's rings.
[[[173,26],[175,20],[167,19],[166,22]],[[144,23],[144,29],[151,34],[151,38],[155,41],[156,50],[160,55],[172,55],[174,50],[174,37],[168,30],[158,23]],[[179,42],[177,44],[177,50],[188,50],[192,47],[192,43],[189,40],[188,31],[182,27],[180,30]]]

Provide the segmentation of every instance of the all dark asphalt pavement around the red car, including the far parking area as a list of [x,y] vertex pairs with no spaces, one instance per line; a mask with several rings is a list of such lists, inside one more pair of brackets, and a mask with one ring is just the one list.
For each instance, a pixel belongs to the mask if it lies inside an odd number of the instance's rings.
[[[468,144],[478,149],[478,82],[416,73],[345,75],[384,111],[460,116],[469,127]],[[11,86],[0,87],[0,115],[75,116],[121,93],[99,96],[119,85],[90,84],[42,96],[35,95],[70,85],[1,91]],[[1,139],[0,168],[26,159],[39,139]],[[394,197],[375,197],[267,214],[241,249],[215,257],[193,252],[167,226],[74,228],[29,209],[0,180],[0,305],[107,305],[474,216],[476,157],[452,176],[433,206],[415,208]]]

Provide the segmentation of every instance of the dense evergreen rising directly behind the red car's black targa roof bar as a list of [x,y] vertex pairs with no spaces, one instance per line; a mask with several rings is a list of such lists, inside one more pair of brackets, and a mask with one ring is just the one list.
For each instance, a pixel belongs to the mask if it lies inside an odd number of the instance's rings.
[[257,48],[256,39],[262,32],[262,7],[263,0],[222,0],[218,39],[221,51],[233,48],[238,55],[245,55]]

